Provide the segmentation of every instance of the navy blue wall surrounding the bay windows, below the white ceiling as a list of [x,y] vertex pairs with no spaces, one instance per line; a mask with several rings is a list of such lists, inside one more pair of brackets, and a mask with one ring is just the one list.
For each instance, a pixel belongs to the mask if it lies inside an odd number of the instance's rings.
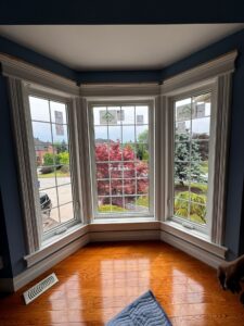
[[[231,142],[227,196],[227,231],[226,246],[230,248],[229,258],[236,256],[243,250],[240,238],[242,221],[242,196],[244,176],[244,150],[240,148],[244,139],[244,32],[236,33],[191,57],[164,68],[163,71],[146,72],[74,72],[62,64],[35,53],[9,40],[0,38],[0,52],[5,52],[26,60],[39,67],[50,70],[70,79],[82,82],[160,82],[177,73],[206,62],[230,50],[237,49],[239,58],[233,78],[233,99],[231,115]],[[5,78],[0,77],[0,190],[2,211],[0,220],[0,237],[4,241],[5,268],[0,271],[0,276],[11,277],[25,268],[25,242],[23,235],[23,218],[18,192],[16,158],[14,141],[11,131],[10,105]],[[4,154],[3,154],[4,153]],[[0,211],[1,212],[1,211]],[[4,215],[4,216],[3,216]]]

